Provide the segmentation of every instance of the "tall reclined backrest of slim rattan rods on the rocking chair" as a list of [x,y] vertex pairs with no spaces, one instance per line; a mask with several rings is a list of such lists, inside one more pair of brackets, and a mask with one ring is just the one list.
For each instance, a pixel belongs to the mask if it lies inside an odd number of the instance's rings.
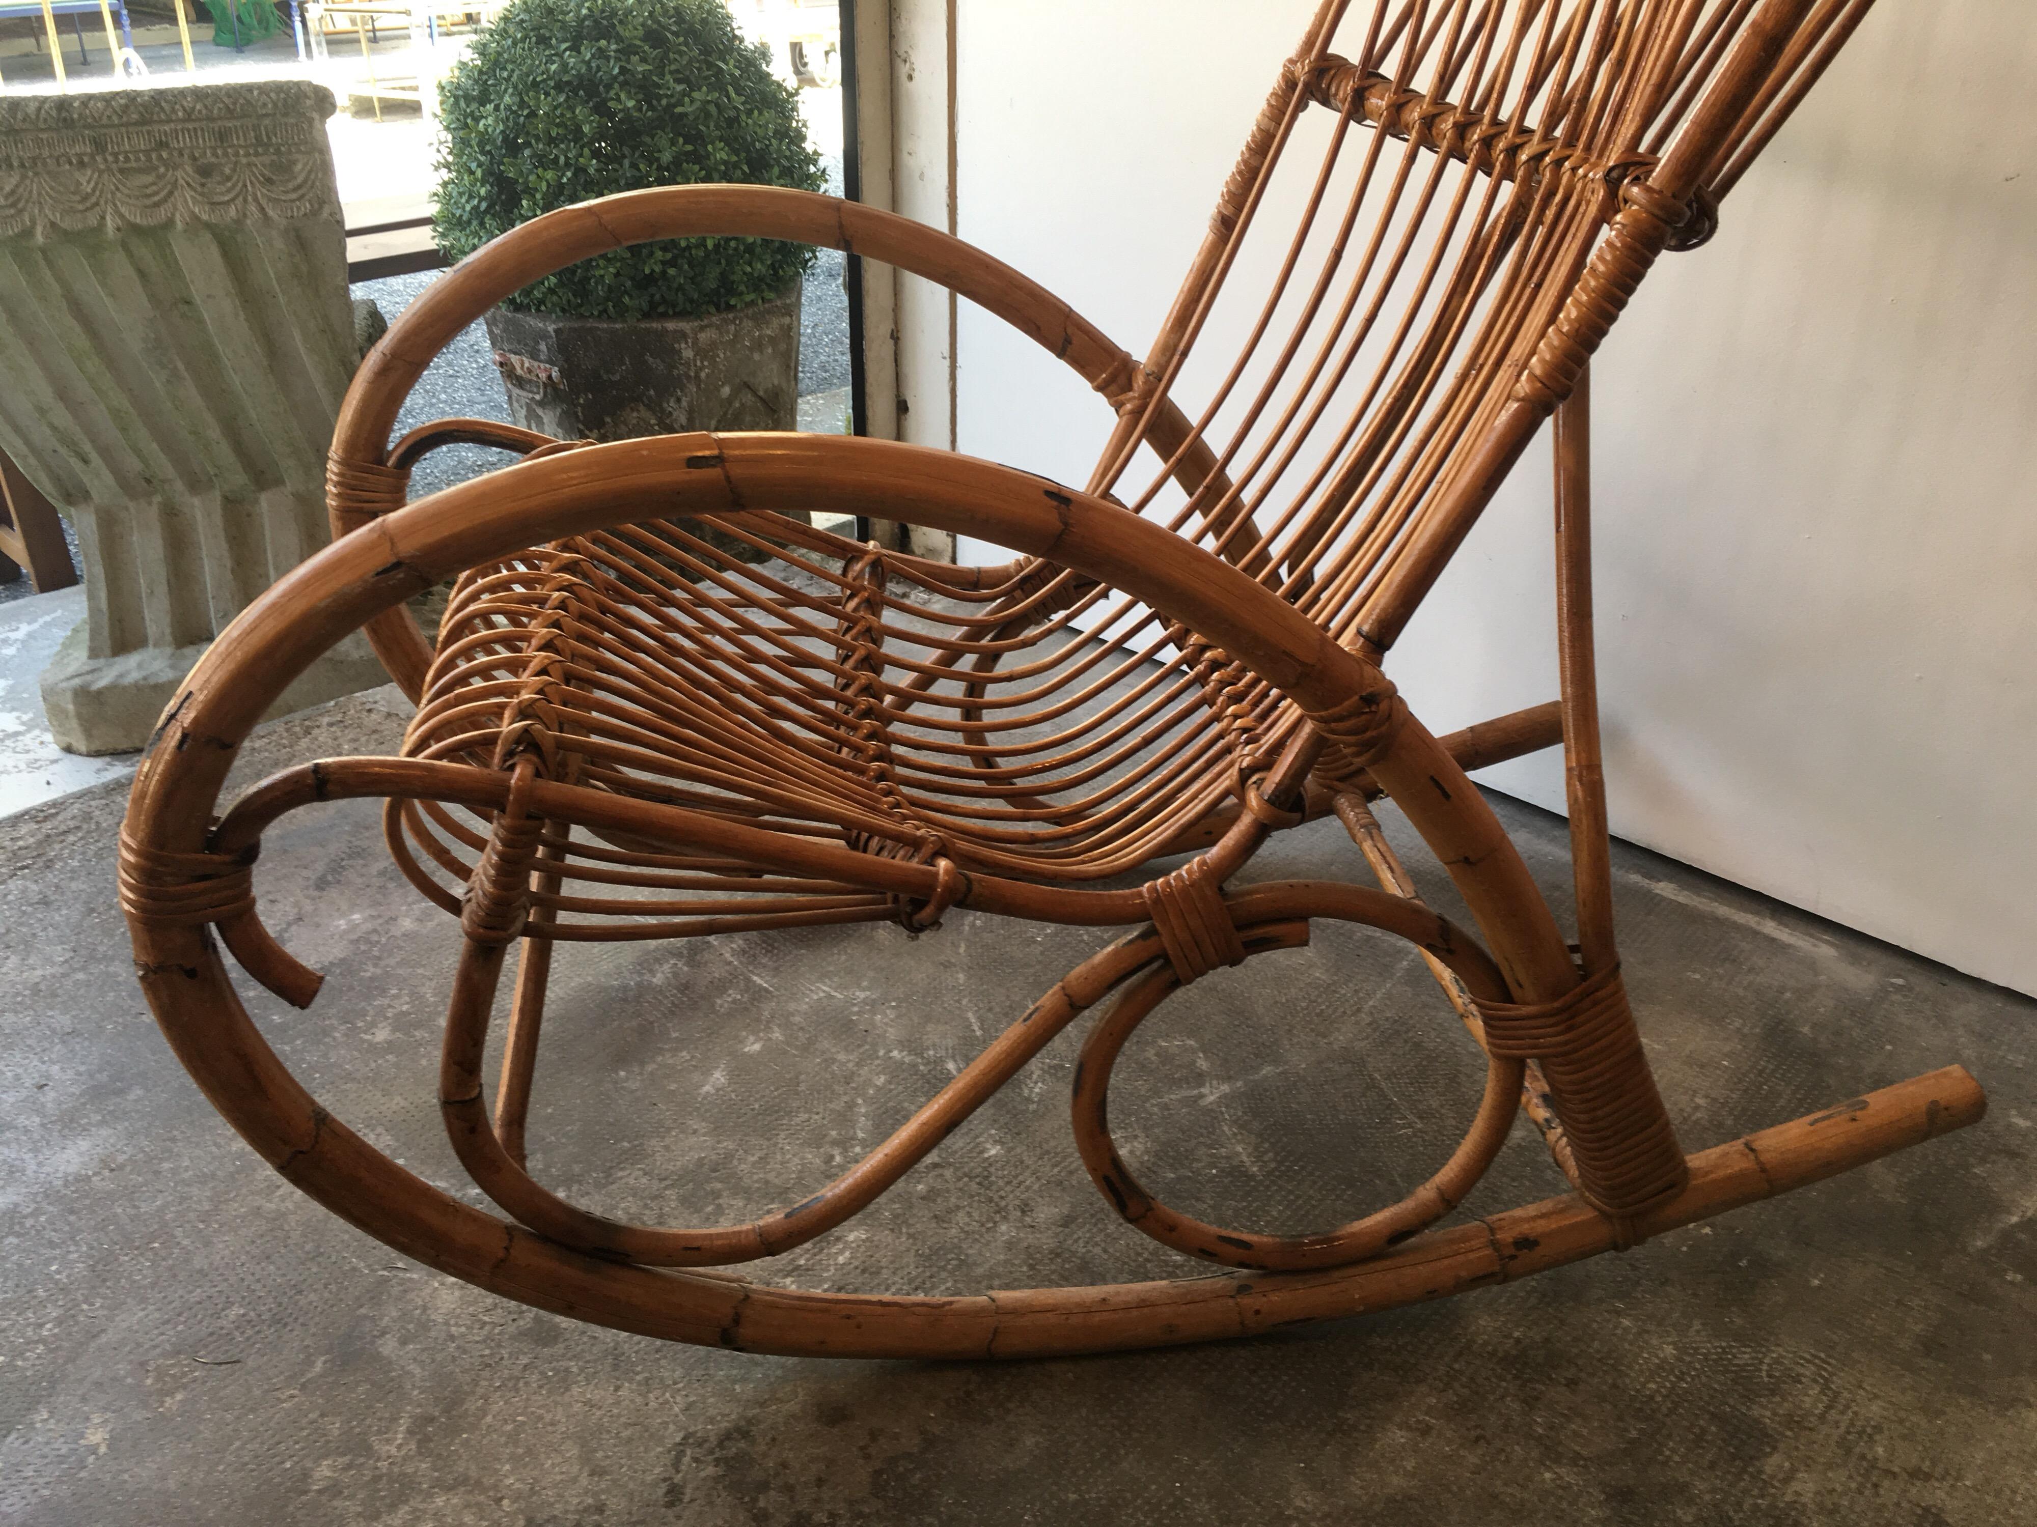
[[[1870,4],[1324,0],[1090,489],[1171,511],[1377,656],[1654,257],[1711,234]],[[1216,332],[1245,340],[1190,397]],[[1155,430],[1161,397],[1186,438]],[[1141,444],[1165,466],[1126,489]]]

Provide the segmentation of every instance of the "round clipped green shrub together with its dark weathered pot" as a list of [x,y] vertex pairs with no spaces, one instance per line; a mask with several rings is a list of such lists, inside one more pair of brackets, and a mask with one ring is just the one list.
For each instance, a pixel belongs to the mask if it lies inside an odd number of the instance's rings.
[[[721,0],[517,0],[440,90],[438,244],[554,208],[750,181],[817,191],[799,102]],[[636,244],[487,316],[509,417],[560,440],[790,430],[813,259],[764,238]]]

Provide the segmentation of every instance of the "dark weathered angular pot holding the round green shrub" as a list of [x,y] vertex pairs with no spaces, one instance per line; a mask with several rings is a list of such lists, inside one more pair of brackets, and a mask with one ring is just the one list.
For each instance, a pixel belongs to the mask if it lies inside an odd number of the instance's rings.
[[707,318],[487,316],[509,419],[560,440],[799,423],[799,281]]

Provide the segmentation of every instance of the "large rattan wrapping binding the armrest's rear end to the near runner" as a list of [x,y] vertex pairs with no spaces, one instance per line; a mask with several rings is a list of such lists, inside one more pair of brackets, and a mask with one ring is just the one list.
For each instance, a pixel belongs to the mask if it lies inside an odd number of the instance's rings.
[[1556,1002],[1477,1008],[1493,1055],[1542,1063],[1593,1207],[1632,1218],[1683,1189],[1689,1167],[1662,1112],[1617,965]]

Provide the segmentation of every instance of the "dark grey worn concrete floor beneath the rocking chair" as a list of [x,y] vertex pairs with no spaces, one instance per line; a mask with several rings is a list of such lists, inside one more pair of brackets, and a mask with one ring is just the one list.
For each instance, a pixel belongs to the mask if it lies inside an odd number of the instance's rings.
[[[393,743],[354,696],[242,772]],[[1562,825],[1497,802],[1552,896]],[[118,782],[0,821],[0,1521],[2037,1521],[2037,1004],[1623,849],[1630,985],[1703,1146],[1966,1063],[1988,1118],[1532,1281],[1277,1338],[1012,1366],[660,1346],[503,1303],[299,1197],[155,1032],[114,910]],[[1334,825],[1259,878],[1351,875]],[[1444,904],[1434,875],[1424,890]],[[336,1116],[454,1185],[432,1104],[452,924],[375,812],[259,873],[328,971],[257,1022]],[[748,1218],[825,1181],[1100,943],[951,916],[562,959],[534,1165],[609,1211]],[[974,1291],[1165,1275],[1067,1132],[1063,1034],[886,1199],[762,1275]],[[1420,965],[1326,930],[1169,1002],[1112,1122],[1163,1195],[1306,1228],[1418,1183],[1477,1063]],[[1518,1128],[1467,1205],[1558,1185]]]

